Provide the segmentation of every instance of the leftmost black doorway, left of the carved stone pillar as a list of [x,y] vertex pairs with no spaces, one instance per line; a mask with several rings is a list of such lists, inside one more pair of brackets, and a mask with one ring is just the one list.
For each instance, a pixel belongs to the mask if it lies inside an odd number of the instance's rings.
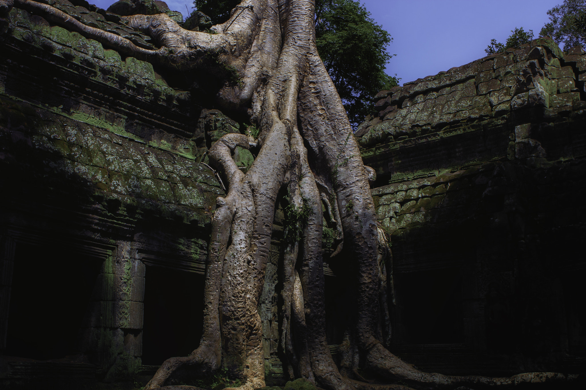
[[97,258],[65,245],[17,243],[5,354],[47,360],[79,353],[99,267]]

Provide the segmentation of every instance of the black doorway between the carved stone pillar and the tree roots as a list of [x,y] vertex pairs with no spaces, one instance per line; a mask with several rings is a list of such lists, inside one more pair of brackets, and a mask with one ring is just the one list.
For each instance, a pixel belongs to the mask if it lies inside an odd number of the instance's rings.
[[145,275],[142,364],[161,365],[188,356],[202,337],[203,275],[147,267]]

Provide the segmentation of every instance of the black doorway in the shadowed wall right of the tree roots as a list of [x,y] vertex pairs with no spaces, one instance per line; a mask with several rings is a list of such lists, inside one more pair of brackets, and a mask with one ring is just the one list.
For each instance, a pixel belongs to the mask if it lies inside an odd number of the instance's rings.
[[462,277],[458,268],[398,274],[395,282],[407,344],[464,341]]

